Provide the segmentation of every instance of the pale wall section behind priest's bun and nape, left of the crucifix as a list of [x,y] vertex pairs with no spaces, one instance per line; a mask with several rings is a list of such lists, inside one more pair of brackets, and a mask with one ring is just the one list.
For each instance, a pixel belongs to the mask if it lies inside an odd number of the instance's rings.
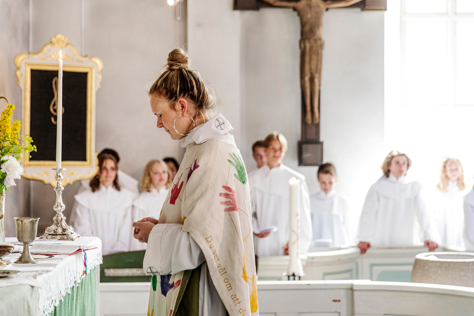
[[237,146],[241,141],[240,11],[233,0],[188,2],[188,52],[217,96],[218,109],[234,127]]

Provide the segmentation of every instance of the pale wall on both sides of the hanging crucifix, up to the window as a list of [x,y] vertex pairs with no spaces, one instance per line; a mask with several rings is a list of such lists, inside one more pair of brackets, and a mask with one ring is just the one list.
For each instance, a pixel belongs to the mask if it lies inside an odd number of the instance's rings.
[[[289,149],[284,163],[319,190],[317,167],[299,167],[301,139],[299,18],[291,9],[245,11],[242,19],[242,139],[248,170],[251,145],[277,130]],[[383,161],[383,12],[330,9],[324,16],[321,141],[335,163],[338,190],[353,207],[353,223]]]

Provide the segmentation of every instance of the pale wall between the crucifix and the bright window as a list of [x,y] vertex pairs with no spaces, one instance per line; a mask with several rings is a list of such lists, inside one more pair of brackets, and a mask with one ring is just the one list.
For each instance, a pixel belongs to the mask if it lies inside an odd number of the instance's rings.
[[324,160],[337,167],[338,190],[351,202],[354,224],[387,154],[383,18],[383,11],[360,9],[330,9],[324,17],[321,140]]

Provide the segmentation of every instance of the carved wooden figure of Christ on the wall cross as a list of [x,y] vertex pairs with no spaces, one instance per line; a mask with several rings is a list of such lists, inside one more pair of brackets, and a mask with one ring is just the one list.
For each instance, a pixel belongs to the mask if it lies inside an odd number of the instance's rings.
[[293,8],[300,16],[300,80],[306,108],[306,124],[319,123],[319,88],[324,41],[321,38],[324,11],[344,8],[361,0],[261,0],[274,7]]

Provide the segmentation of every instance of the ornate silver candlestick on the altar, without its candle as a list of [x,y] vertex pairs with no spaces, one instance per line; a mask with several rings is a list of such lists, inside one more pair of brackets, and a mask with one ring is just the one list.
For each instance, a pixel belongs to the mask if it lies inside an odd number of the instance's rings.
[[53,209],[56,211],[55,217],[53,217],[53,225],[46,228],[46,231],[41,237],[39,238],[46,238],[46,239],[61,239],[61,240],[74,240],[79,236],[76,232],[74,232],[74,228],[66,224],[66,217],[63,215],[63,211],[66,208],[63,203],[63,184],[61,180],[63,180],[63,170],[64,168],[60,169],[53,169],[56,171],[55,179],[56,179],[56,203]]

